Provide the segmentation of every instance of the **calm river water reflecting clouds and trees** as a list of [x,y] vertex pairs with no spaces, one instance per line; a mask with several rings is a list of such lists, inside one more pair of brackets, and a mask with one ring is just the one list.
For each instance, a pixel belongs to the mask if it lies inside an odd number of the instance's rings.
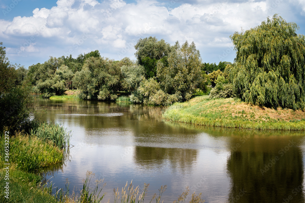
[[[304,132],[207,128],[161,120],[162,107],[82,100],[40,100],[41,120],[73,135],[70,161],[45,175],[82,188],[87,170],[113,188],[149,183],[149,202],[167,185],[164,202],[185,187],[206,202],[305,202]],[[93,181],[92,181],[93,182]],[[191,196],[191,194],[189,195]]]

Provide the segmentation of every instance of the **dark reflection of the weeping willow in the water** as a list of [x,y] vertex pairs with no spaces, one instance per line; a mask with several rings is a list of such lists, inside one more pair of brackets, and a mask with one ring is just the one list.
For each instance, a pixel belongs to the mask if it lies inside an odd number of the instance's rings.
[[304,202],[300,142],[298,136],[256,138],[253,133],[232,138],[228,202]]

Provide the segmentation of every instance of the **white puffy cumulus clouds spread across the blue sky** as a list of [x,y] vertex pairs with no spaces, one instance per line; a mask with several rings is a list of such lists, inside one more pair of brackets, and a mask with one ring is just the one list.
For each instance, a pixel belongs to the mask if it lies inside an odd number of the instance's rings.
[[[299,0],[299,4],[305,8],[303,1]],[[0,20],[0,37],[14,38],[22,44],[34,36],[34,44],[24,51],[29,53],[39,50],[46,53],[44,47],[54,47],[62,50],[57,56],[72,49],[76,57],[84,51],[98,49],[108,54],[106,57],[120,59],[134,56],[133,46],[139,38],[156,36],[171,44],[176,40],[181,44],[185,40],[194,41],[202,54],[210,54],[211,48],[218,47],[217,53],[213,53],[216,56],[231,46],[229,36],[235,31],[255,27],[277,11],[285,12],[288,3],[283,0],[198,0],[182,4],[174,1],[170,6],[156,0],[136,3],[58,0],[51,9],[34,9],[33,16]],[[215,57],[214,61],[217,61]]]

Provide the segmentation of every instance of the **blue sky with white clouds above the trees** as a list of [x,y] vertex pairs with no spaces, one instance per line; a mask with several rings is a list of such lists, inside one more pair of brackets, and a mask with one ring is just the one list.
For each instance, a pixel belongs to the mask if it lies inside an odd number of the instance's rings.
[[12,64],[99,50],[135,60],[140,38],[195,43],[203,62],[233,62],[230,35],[278,13],[305,34],[304,0],[0,0],[0,41]]

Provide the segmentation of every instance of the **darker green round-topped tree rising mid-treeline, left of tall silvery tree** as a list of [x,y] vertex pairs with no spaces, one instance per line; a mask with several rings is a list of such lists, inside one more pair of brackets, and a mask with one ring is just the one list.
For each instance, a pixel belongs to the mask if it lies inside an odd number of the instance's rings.
[[139,65],[145,68],[146,79],[156,76],[157,61],[170,53],[170,44],[163,39],[158,40],[156,37],[146,37],[139,39],[135,45],[135,56]]

